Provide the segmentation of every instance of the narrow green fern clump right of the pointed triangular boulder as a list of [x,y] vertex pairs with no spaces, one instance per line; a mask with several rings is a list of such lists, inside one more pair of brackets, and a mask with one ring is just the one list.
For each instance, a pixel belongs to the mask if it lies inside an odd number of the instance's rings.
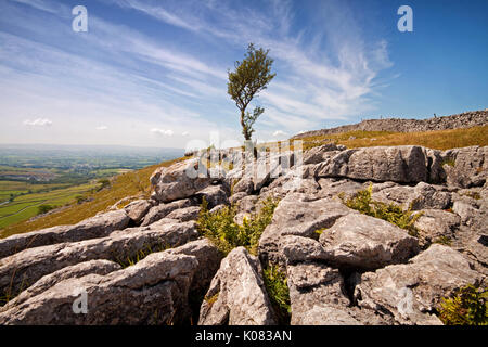
[[277,311],[279,323],[290,323],[292,308],[290,306],[290,290],[286,275],[279,270],[278,266],[270,266],[262,271],[265,287],[271,304]]

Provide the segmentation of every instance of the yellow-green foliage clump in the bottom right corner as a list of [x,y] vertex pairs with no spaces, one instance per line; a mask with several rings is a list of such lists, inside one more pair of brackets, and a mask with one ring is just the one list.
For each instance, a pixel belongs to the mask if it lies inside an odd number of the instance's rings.
[[466,285],[442,298],[439,319],[446,325],[488,325],[488,291]]

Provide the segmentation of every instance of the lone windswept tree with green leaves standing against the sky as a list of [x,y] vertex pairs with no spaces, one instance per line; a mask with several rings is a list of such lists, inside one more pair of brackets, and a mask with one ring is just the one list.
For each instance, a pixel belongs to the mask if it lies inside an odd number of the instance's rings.
[[235,62],[235,70],[229,72],[227,92],[235,102],[241,112],[242,133],[245,140],[251,140],[254,132],[253,125],[265,112],[265,108],[256,106],[253,113],[246,111],[251,101],[257,93],[266,89],[277,74],[271,74],[273,60],[268,57],[269,50],[262,48],[256,50],[253,43],[247,47],[247,53],[242,62]]

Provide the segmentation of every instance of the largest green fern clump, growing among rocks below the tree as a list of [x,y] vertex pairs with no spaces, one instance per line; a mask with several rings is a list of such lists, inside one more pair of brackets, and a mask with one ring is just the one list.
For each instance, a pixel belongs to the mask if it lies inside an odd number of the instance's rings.
[[240,226],[234,221],[236,207],[224,206],[215,213],[208,210],[204,198],[196,226],[198,231],[208,237],[223,254],[233,248],[244,246],[252,254],[257,253],[259,237],[265,228],[271,222],[278,201],[272,197],[262,202],[259,213],[244,218]]

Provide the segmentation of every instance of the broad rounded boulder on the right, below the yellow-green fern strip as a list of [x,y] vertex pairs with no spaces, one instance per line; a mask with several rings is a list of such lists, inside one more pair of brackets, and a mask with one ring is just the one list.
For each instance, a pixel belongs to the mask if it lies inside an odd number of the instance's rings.
[[326,260],[339,268],[371,270],[406,262],[420,250],[419,241],[383,219],[341,217],[320,235]]

